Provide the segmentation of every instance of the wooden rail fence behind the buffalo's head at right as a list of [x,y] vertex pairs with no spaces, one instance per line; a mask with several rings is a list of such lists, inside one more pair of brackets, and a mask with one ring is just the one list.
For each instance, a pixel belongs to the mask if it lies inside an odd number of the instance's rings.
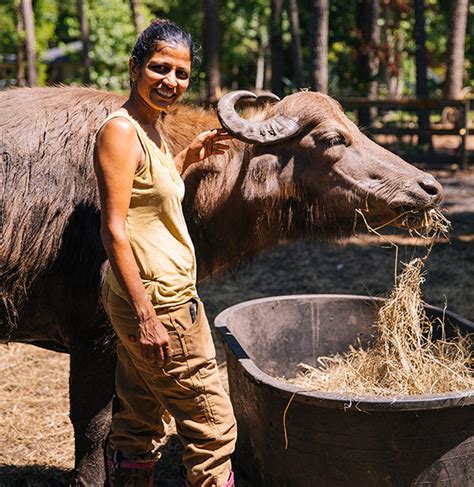
[[358,112],[361,109],[376,109],[378,117],[386,111],[415,112],[429,111],[442,114],[450,110],[454,114],[454,121],[451,127],[434,127],[430,125],[427,129],[422,129],[416,124],[410,123],[408,126],[402,122],[397,124],[378,124],[372,123],[367,127],[367,132],[372,135],[384,134],[402,137],[404,135],[457,135],[460,137],[458,160],[463,169],[467,169],[467,137],[469,135],[469,109],[470,99],[449,100],[441,98],[425,99],[385,99],[371,100],[368,98],[341,98],[339,102],[345,110]]

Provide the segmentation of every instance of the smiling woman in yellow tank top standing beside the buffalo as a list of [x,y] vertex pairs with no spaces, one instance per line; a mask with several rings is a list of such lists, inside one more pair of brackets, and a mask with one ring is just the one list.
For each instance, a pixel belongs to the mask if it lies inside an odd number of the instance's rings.
[[203,132],[173,158],[156,129],[188,87],[193,56],[187,32],[153,21],[132,51],[130,96],[96,139],[101,237],[110,262],[103,302],[119,338],[120,410],[106,452],[112,485],[152,485],[166,411],[185,446],[186,485],[234,485],[235,419],[196,292],[180,177],[190,164],[223,154],[230,136]]

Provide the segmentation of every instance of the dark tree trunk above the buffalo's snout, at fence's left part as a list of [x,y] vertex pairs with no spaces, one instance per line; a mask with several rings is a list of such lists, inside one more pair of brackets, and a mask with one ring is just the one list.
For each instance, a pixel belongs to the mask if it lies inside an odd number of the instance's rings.
[[[357,33],[359,49],[357,57],[357,78],[362,96],[370,99],[377,97],[377,75],[379,73],[380,0],[357,1]],[[369,126],[371,110],[359,109],[359,124]]]

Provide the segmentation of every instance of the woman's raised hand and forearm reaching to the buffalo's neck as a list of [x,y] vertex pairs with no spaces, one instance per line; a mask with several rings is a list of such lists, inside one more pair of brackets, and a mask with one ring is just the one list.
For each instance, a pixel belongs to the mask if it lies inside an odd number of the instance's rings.
[[209,156],[224,154],[230,147],[221,142],[232,138],[232,135],[225,129],[201,132],[186,149],[174,158],[178,171],[183,173],[190,164],[202,161]]

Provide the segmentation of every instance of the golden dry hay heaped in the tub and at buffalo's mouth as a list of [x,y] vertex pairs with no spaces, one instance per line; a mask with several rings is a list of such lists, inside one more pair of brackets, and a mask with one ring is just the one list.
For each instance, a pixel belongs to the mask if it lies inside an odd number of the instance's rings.
[[[441,215],[442,216],[442,215]],[[449,228],[439,214],[426,220],[425,234],[437,236]],[[367,349],[350,347],[343,355],[320,357],[318,366],[300,364],[291,382],[305,390],[356,395],[398,396],[474,389],[472,337],[456,333],[446,339],[444,323],[426,316],[420,286],[424,259],[404,265],[396,286],[380,308],[375,333]],[[432,340],[434,327],[441,339]]]

